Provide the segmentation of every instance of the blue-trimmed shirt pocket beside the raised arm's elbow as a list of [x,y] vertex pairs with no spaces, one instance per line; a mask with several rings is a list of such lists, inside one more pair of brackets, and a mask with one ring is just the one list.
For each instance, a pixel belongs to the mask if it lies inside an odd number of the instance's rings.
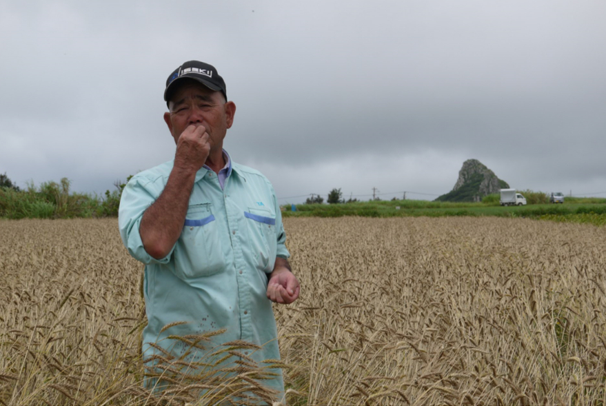
[[190,205],[174,250],[175,273],[182,279],[223,272],[225,258],[212,205]]

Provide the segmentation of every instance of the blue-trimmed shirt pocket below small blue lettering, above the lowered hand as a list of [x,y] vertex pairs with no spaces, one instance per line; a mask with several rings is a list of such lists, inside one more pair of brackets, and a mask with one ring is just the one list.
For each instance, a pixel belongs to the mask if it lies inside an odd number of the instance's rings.
[[276,216],[270,210],[248,207],[244,212],[250,250],[257,266],[264,272],[272,272],[276,262],[278,241],[276,238]]

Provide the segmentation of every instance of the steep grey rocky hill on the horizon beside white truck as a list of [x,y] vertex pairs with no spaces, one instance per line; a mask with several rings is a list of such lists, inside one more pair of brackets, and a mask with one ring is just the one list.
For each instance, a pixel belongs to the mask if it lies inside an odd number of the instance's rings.
[[438,197],[436,201],[476,201],[487,194],[508,188],[507,182],[498,179],[486,165],[477,159],[467,159],[458,171],[458,179],[452,190]]

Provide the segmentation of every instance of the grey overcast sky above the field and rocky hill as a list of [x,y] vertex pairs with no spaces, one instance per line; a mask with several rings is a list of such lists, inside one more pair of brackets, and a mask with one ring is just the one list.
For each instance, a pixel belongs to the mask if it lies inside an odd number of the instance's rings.
[[[606,2],[0,2],[0,173],[78,192],[169,161],[168,74],[214,65],[224,148],[281,203],[435,199],[478,159],[606,196]],[[299,196],[299,197],[293,197]]]

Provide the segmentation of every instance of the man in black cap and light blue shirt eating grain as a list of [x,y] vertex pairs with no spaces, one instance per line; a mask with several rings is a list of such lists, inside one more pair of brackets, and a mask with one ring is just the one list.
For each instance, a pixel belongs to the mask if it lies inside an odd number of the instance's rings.
[[[265,176],[223,150],[236,105],[212,65],[183,63],[168,77],[164,99],[174,160],[133,176],[119,210],[122,241],[145,263],[143,357],[148,365],[166,354],[192,363],[241,340],[261,346],[245,356],[263,366],[279,359],[272,301],[299,297],[276,195]],[[191,342],[219,329],[226,331],[202,342],[206,350],[168,338]],[[283,392],[281,371],[272,372],[265,384]]]

